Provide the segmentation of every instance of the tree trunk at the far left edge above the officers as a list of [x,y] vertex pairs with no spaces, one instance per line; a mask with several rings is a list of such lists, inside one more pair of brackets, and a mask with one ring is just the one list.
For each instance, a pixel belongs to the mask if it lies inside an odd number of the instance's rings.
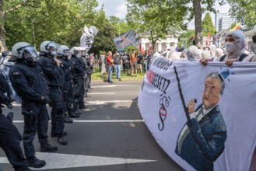
[[0,0],[0,51],[6,51],[6,43],[5,43],[5,16],[3,12],[3,4],[4,1]]

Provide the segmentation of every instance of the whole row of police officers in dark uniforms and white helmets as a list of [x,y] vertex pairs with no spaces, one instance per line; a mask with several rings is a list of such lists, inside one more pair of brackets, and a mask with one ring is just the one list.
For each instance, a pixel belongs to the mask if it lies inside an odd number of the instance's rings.
[[[40,168],[46,162],[37,159],[33,139],[36,134],[40,152],[55,152],[47,131],[51,116],[51,138],[60,145],[68,145],[65,123],[78,118],[79,110],[86,109],[84,97],[90,89],[93,57],[82,47],[58,45],[46,40],[40,44],[40,53],[26,42],[19,42],[12,51],[2,53],[0,68],[0,147],[9,162],[18,171]],[[13,95],[14,96],[13,96]],[[16,99],[15,99],[16,98]],[[17,101],[19,98],[19,101]],[[2,114],[2,104],[12,108],[11,102],[21,103],[24,120],[23,136],[12,124],[13,113]],[[47,111],[47,103],[51,113]],[[23,148],[19,141],[23,140]]]

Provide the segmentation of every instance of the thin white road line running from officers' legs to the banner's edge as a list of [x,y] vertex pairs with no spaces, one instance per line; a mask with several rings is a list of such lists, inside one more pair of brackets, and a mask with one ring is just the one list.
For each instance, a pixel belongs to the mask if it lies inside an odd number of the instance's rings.
[[[23,123],[23,120],[12,120],[13,123],[19,124]],[[49,123],[51,120],[49,121]],[[75,120],[73,122],[76,123],[133,123],[133,122],[144,122],[144,120]]]

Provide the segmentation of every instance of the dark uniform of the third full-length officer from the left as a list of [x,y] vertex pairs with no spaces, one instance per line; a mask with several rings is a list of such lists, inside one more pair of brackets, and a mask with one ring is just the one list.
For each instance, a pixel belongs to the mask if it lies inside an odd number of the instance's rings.
[[74,68],[71,64],[71,62],[68,60],[68,58],[62,56],[59,58],[59,60],[61,61],[63,68],[64,68],[64,72],[65,72],[65,82],[64,82],[64,86],[63,86],[63,99],[64,99],[64,103],[65,103],[65,110],[68,111],[68,117],[79,117],[79,115],[76,115],[73,112],[73,99],[74,99],[74,89],[73,89],[73,83],[72,83],[72,79],[73,79],[73,71]]

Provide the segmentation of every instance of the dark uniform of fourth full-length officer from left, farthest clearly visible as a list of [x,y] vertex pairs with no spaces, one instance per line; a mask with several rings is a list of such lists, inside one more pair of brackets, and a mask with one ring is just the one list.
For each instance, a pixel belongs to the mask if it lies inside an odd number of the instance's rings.
[[85,93],[85,85],[84,85],[84,75],[85,75],[85,66],[83,62],[76,58],[75,55],[72,55],[70,59],[72,66],[74,67],[74,77],[73,77],[73,84],[74,84],[74,103],[73,103],[73,110],[77,113],[79,102],[83,101],[84,93]]

